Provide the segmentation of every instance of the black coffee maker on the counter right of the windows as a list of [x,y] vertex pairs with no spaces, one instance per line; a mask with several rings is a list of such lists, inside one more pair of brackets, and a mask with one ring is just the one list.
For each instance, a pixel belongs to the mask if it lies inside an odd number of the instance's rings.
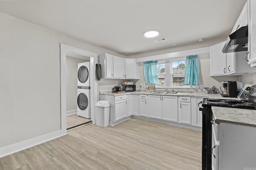
[[222,93],[220,94],[223,97],[229,97],[229,98],[236,98],[243,87],[242,82],[236,82],[236,81],[224,81],[224,82],[221,82],[220,84],[222,84],[222,87],[220,87],[220,90]]

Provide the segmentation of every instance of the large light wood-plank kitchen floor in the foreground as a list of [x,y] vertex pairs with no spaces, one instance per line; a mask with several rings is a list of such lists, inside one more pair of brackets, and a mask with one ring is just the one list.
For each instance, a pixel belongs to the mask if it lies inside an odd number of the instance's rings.
[[0,169],[200,170],[201,134],[139,119],[90,124],[0,158]]

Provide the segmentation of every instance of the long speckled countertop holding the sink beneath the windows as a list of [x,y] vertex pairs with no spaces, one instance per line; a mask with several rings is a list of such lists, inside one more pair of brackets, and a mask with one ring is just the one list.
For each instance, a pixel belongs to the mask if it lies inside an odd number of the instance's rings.
[[[164,90],[157,90],[158,92],[163,92]],[[170,92],[171,90],[168,90]],[[174,90],[175,92],[177,90]],[[104,95],[113,95],[113,96],[121,96],[124,94],[144,94],[144,95],[158,95],[158,96],[188,96],[188,97],[200,97],[200,98],[214,98],[214,99],[231,99],[236,100],[237,98],[224,98],[220,94],[206,94],[204,90],[178,90],[177,94],[154,94],[148,92],[147,90],[135,91],[135,92],[124,92],[124,93],[112,93],[111,90],[100,91],[100,94]]]

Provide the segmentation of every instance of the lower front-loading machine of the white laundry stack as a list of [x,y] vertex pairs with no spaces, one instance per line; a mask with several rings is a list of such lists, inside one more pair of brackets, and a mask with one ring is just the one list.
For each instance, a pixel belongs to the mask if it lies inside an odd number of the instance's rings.
[[90,89],[77,89],[77,115],[91,118]]

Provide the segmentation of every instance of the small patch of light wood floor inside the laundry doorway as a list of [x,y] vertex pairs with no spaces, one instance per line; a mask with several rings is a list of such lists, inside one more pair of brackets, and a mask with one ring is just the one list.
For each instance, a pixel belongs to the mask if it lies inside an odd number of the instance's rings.
[[92,122],[91,119],[86,119],[84,117],[78,116],[77,114],[67,115],[67,130],[73,127],[78,127],[80,125]]

